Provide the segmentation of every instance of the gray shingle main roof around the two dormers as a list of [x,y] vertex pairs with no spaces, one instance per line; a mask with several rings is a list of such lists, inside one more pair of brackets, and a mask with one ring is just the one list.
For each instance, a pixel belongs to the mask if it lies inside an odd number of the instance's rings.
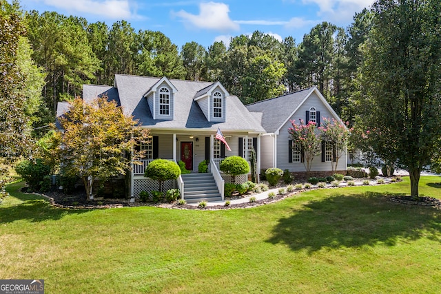
[[161,78],[148,76],[115,75],[115,86],[85,85],[83,99],[91,99],[105,94],[119,101],[125,114],[133,115],[141,125],[150,129],[205,129],[216,131],[265,132],[256,116],[248,112],[247,108],[236,96],[226,97],[225,123],[207,121],[198,103],[193,98],[208,91],[212,82],[183,81],[170,79],[178,92],[174,94],[174,120],[154,120],[150,107],[143,94],[152,88]]

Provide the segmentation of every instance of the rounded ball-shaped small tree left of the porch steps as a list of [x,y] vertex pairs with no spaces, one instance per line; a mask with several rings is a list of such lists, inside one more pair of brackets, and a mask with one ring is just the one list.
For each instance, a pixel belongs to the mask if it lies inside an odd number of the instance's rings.
[[176,180],[181,175],[179,165],[167,159],[155,159],[145,168],[144,176],[152,180],[158,180],[161,193],[164,191],[164,182],[166,180]]

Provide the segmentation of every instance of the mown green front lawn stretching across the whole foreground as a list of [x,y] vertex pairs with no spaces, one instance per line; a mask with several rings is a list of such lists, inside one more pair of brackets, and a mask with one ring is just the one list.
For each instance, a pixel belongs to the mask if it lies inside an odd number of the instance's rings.
[[[439,177],[420,193],[440,197]],[[68,210],[0,204],[0,277],[46,293],[439,293],[441,211],[388,202],[409,179],[252,209]]]

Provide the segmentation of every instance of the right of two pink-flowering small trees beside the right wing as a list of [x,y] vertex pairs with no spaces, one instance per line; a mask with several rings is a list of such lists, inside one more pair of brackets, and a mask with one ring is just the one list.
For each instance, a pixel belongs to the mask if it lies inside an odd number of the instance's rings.
[[[347,125],[349,125],[349,123],[347,123]],[[351,132],[345,123],[339,122],[335,118],[332,118],[332,120],[323,118],[322,126],[318,127],[318,129],[320,130],[321,140],[331,143],[334,148],[335,161],[331,160],[331,169],[333,173],[335,173],[338,167],[338,160],[345,154],[347,141]]]

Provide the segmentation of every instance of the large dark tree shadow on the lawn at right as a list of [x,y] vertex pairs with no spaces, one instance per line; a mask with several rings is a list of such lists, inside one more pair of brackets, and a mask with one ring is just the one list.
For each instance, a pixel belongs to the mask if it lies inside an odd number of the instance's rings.
[[323,248],[393,246],[399,239],[417,240],[423,235],[441,241],[440,211],[391,203],[387,197],[367,192],[309,202],[280,219],[267,242],[312,253]]

